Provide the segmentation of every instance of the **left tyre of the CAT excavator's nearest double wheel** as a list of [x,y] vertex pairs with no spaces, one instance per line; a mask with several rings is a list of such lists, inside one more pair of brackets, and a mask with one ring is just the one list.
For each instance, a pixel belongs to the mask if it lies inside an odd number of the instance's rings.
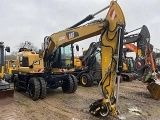
[[32,77],[29,80],[29,96],[32,100],[38,100],[40,96],[40,82],[38,78]]

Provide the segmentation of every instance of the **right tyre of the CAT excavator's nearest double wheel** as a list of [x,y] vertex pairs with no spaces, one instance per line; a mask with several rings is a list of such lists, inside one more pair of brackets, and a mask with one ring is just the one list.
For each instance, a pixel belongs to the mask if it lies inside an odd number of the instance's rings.
[[46,85],[46,81],[43,77],[38,77],[39,82],[40,82],[40,99],[44,99],[46,98],[47,95],[47,85]]

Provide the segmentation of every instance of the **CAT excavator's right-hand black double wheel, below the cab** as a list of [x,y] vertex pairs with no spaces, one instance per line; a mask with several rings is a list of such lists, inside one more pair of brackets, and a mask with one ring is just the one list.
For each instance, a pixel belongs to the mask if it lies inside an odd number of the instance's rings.
[[62,91],[64,93],[74,93],[77,90],[77,79],[73,75],[69,75],[68,79],[64,80]]

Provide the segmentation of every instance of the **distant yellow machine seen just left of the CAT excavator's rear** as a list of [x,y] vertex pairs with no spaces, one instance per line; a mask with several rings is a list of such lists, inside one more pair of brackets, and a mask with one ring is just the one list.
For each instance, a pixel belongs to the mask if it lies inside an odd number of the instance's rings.
[[16,66],[17,66],[17,60],[6,60],[5,61],[5,75],[4,79],[7,82],[13,82],[13,74],[16,74]]

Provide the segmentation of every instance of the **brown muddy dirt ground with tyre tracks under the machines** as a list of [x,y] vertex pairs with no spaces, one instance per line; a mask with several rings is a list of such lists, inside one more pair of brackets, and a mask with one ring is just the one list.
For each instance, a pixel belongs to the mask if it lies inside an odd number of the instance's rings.
[[[160,100],[151,98],[146,84],[141,81],[120,84],[119,110],[125,120],[159,120]],[[61,89],[49,90],[47,98],[32,101],[27,94],[15,92],[14,102],[0,105],[0,120],[99,120],[90,115],[89,105],[102,98],[95,84],[78,86],[74,94],[64,94]],[[138,112],[130,112],[136,108]],[[107,119],[107,118],[105,118]],[[116,118],[109,117],[107,120]]]

